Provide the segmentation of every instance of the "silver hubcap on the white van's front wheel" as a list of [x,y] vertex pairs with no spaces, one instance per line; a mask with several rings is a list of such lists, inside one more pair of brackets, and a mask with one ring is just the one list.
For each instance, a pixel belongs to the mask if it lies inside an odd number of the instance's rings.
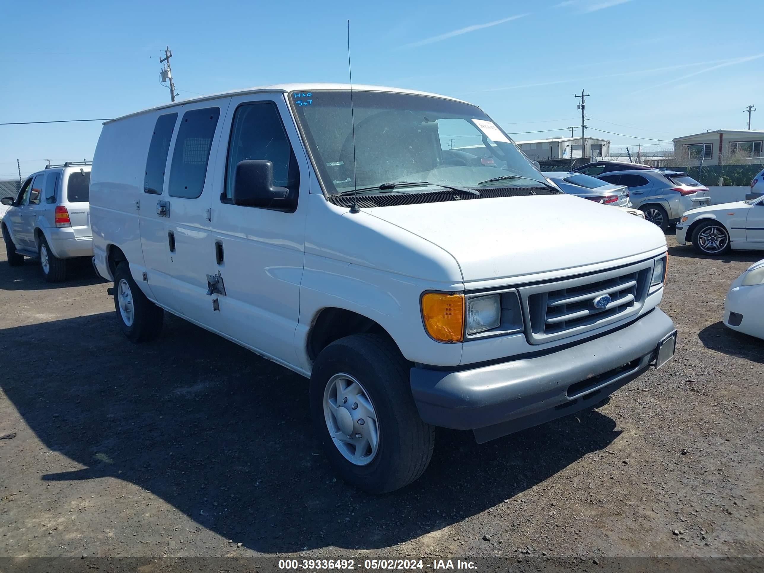
[[324,390],[324,419],[332,442],[354,465],[377,455],[379,425],[368,393],[350,374],[335,374]]

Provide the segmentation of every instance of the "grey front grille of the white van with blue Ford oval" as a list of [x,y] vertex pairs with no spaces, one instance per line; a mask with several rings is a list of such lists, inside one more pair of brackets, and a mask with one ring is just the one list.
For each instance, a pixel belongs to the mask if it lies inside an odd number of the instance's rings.
[[[647,296],[652,265],[649,260],[604,273],[521,287],[529,342],[552,342],[636,315]],[[595,300],[602,306],[596,306]]]

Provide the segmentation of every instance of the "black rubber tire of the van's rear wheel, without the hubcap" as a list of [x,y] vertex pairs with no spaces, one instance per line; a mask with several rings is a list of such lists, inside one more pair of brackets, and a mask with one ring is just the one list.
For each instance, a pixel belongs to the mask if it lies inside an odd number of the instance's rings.
[[[120,286],[122,281],[125,281],[130,294],[132,319],[129,324],[120,309]],[[117,265],[117,270],[114,274],[114,309],[119,328],[131,342],[150,342],[156,339],[162,332],[162,324],[164,322],[163,309],[146,298],[141,288],[133,280],[130,274],[130,267],[125,261]]]

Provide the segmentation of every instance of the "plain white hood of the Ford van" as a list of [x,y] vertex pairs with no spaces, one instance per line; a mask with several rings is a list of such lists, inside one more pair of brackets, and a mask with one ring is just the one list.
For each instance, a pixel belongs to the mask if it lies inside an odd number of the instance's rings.
[[466,199],[364,211],[448,251],[465,282],[618,261],[666,245],[656,225],[570,195]]

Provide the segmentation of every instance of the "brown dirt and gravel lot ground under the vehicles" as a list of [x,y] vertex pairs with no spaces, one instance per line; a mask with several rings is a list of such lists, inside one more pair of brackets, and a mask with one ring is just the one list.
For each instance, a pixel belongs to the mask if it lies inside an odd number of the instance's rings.
[[761,254],[669,244],[673,361],[484,445],[439,431],[384,497],[332,477],[303,378],[173,317],[130,345],[87,264],[0,255],[0,557],[762,557],[764,342],[720,322]]

